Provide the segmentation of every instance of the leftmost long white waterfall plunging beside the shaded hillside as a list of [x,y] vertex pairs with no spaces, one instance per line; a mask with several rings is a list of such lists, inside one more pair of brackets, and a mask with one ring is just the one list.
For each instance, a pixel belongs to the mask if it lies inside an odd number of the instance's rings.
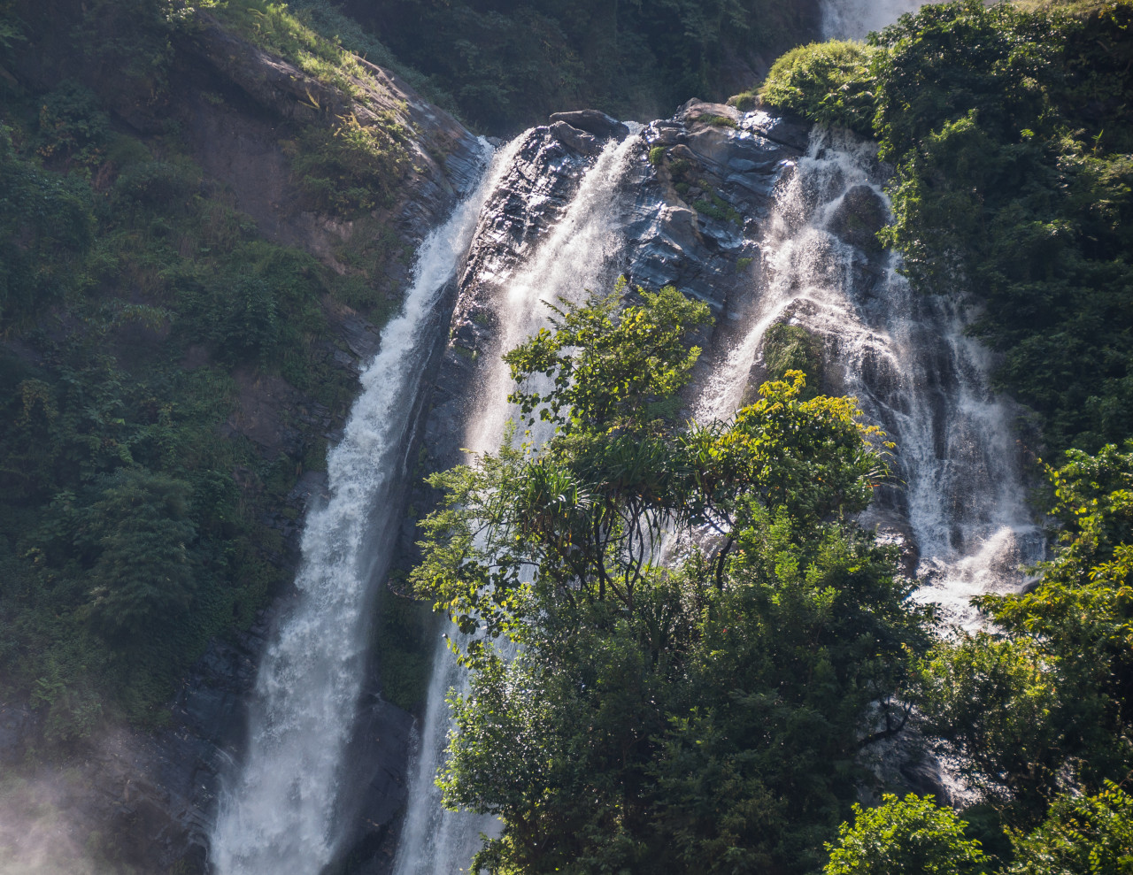
[[218,875],[318,875],[335,851],[366,617],[399,523],[400,456],[435,336],[436,303],[493,180],[488,172],[421,243],[402,311],[383,329],[342,440],[329,455],[330,497],[307,517],[296,597],[264,653],[248,749],[225,782],[211,835]]

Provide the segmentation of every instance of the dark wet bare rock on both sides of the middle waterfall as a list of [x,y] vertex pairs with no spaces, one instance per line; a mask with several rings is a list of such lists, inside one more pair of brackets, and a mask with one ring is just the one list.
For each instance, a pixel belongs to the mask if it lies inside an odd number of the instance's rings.
[[[751,265],[775,188],[808,144],[810,126],[766,112],[739,113],[723,104],[690,101],[672,118],[640,130],[620,217],[621,271],[631,285],[675,285],[704,300],[727,333],[752,286]],[[552,228],[610,138],[629,129],[593,111],[556,113],[523,143],[502,185],[485,206],[462,273],[450,341],[433,385],[426,421],[427,466],[461,461],[470,417],[469,387],[499,334],[497,281]],[[712,336],[705,338],[712,343]],[[416,486],[411,503],[436,500]],[[402,538],[402,563],[414,556],[416,527]]]

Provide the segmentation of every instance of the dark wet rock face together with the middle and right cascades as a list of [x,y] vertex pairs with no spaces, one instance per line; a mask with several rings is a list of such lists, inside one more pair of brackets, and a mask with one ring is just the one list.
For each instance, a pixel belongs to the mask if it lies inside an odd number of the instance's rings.
[[[698,419],[726,418],[750,397],[766,376],[770,325],[802,327],[820,341],[821,388],[857,395],[897,443],[898,483],[862,522],[902,543],[923,597],[970,624],[970,595],[1017,587],[1019,565],[1042,540],[1022,500],[1012,410],[986,386],[988,362],[963,334],[961,298],[914,295],[878,245],[888,205],[874,147],[690,102],[591,152],[571,149],[553,127],[530,130],[488,197],[434,387],[429,464],[496,446],[510,388],[499,357],[545,324],[539,299],[580,300],[619,274],[673,284],[717,316],[690,393]],[[398,875],[466,866],[477,833],[493,827],[443,813],[432,786],[449,729],[443,697],[463,683],[444,647],[436,659]],[[892,770],[934,789],[936,769],[912,762],[917,753]]]

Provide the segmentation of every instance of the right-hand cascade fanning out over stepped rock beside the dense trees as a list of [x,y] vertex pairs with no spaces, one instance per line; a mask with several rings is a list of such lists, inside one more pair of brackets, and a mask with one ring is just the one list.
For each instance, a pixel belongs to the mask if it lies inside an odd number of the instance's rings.
[[875,152],[811,135],[776,196],[749,327],[721,357],[697,418],[725,418],[739,406],[772,324],[819,335],[826,379],[855,395],[897,445],[903,484],[877,503],[872,522],[906,526],[919,552],[920,598],[973,626],[969,599],[1017,590],[1020,567],[1041,558],[1043,540],[1024,501],[1012,412],[987,386],[986,350],[964,334],[962,295],[917,294],[895,255],[870,257],[840,238],[854,205],[874,199],[880,214],[888,209]]

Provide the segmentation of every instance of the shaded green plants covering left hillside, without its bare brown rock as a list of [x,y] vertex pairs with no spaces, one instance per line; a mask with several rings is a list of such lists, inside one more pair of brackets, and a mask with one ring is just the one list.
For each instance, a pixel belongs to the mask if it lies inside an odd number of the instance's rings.
[[[212,11],[313,76],[359,75],[282,8]],[[267,603],[297,475],[324,466],[353,394],[324,304],[390,310],[399,245],[368,214],[394,195],[400,132],[291,131],[299,205],[361,217],[344,275],[269,242],[179,135],[190,12],[0,3],[0,689],[31,695],[46,743],[161,719],[207,642]],[[58,69],[36,79],[40,62]],[[225,424],[264,380],[296,400],[280,447]]]

